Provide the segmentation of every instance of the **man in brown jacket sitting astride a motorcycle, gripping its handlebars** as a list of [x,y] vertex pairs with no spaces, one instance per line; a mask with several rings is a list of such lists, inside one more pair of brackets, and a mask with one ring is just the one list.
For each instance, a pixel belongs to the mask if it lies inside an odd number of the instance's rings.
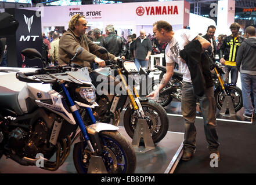
[[[89,72],[91,72],[90,63],[98,63],[100,67],[106,65],[104,62],[104,60],[107,60],[106,54],[100,54],[99,51],[97,51],[100,46],[88,39],[85,35],[86,29],[87,22],[84,16],[75,14],[71,17],[68,29],[59,41],[59,65],[67,65],[70,58],[75,55],[75,50],[77,50],[78,47],[82,47],[82,53],[77,56],[73,62],[88,67]],[[113,54],[108,53],[108,55],[111,60],[116,59]]]

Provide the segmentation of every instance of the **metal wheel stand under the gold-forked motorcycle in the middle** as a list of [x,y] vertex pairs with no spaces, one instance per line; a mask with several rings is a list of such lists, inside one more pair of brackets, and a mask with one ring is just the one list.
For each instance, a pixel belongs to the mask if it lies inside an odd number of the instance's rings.
[[[140,139],[143,138],[145,147],[140,147]],[[145,119],[138,119],[138,124],[134,132],[134,138],[132,139],[132,145],[134,146],[135,152],[145,153],[147,151],[155,149],[152,136],[149,132],[149,126]]]

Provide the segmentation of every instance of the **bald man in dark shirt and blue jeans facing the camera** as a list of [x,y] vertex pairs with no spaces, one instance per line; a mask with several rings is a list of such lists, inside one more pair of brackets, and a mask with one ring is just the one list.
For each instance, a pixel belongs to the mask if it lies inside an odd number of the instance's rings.
[[146,36],[146,31],[140,29],[139,38],[135,40],[134,43],[134,56],[135,65],[140,68],[147,68],[150,54],[152,53],[152,43]]

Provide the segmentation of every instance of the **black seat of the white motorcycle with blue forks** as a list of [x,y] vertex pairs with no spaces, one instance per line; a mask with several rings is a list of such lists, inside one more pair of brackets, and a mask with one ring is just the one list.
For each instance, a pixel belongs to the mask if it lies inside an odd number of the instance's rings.
[[0,105],[1,109],[9,109],[16,114],[22,114],[18,101],[19,92],[0,86]]

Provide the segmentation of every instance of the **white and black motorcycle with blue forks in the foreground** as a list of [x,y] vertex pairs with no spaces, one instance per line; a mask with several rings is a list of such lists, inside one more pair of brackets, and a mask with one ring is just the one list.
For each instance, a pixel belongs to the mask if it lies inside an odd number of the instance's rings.
[[[22,54],[42,59],[34,49]],[[56,171],[74,145],[78,173],[135,172],[131,143],[118,127],[96,122],[93,116],[96,95],[87,68],[56,66],[18,72],[16,77],[27,82],[20,92],[0,87],[0,158],[4,154],[21,165]],[[86,110],[84,120],[81,109]],[[50,161],[54,154],[55,161]]]

